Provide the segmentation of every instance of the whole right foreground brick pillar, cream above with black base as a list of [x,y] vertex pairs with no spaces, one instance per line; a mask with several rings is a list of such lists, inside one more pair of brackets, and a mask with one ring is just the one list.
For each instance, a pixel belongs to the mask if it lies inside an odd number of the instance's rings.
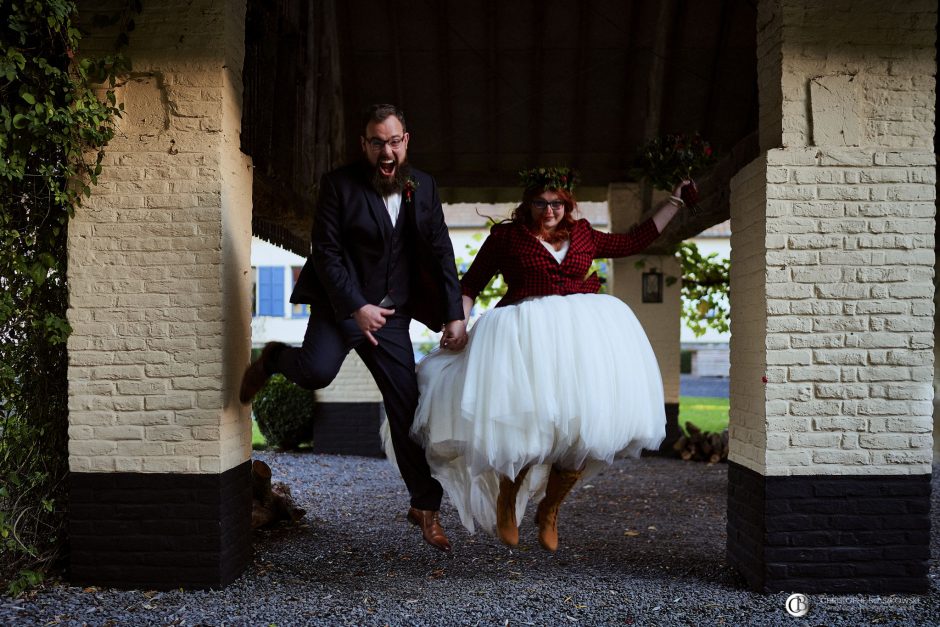
[[763,590],[928,589],[932,0],[762,0],[732,181],[731,561]]

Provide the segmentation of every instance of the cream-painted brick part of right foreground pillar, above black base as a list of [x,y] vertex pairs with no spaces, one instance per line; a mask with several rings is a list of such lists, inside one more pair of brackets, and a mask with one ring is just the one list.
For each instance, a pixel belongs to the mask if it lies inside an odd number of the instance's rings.
[[931,470],[936,17],[760,3],[767,152],[732,184],[730,455],[758,472]]

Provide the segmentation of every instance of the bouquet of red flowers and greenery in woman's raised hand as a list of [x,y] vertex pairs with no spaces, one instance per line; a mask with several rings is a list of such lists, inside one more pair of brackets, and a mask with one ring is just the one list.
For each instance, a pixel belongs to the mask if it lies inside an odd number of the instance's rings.
[[692,185],[682,189],[682,200],[694,212],[697,210],[698,188],[693,177],[714,162],[711,144],[698,133],[663,135],[650,140],[640,150],[635,172],[649,178],[656,189],[667,192],[683,179],[692,180]]

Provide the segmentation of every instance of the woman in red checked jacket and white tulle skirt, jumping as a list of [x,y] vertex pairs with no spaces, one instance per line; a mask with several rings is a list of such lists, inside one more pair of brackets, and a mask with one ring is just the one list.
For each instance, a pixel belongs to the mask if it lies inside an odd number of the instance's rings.
[[497,273],[506,295],[470,330],[465,350],[444,345],[418,365],[412,437],[470,532],[479,524],[515,546],[526,504],[541,497],[539,543],[555,551],[558,510],[577,481],[665,437],[652,347],[630,308],[598,294],[588,271],[594,259],[649,246],[689,181],[650,219],[610,234],[574,217],[568,168],[522,178],[511,220],[493,226],[461,280],[465,318]]

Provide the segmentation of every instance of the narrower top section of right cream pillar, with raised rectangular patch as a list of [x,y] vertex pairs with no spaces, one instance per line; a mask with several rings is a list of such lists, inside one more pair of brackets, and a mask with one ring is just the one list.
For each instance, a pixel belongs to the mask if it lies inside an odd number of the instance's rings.
[[931,146],[936,25],[933,0],[761,3],[762,148]]

